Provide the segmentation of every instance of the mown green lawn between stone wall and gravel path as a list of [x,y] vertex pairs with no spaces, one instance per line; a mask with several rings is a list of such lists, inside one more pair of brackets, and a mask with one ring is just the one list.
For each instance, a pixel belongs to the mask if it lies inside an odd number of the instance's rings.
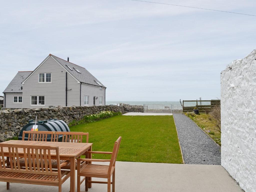
[[[117,115],[71,126],[70,131],[89,132],[93,151],[112,151],[114,142],[122,136],[117,161],[182,163],[173,116]],[[94,154],[93,158],[109,155]]]

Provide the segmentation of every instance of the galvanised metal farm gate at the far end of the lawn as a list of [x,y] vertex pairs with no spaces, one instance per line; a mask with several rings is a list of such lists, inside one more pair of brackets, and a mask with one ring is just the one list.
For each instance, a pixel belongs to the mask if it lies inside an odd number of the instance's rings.
[[180,104],[144,104],[144,113],[182,113]]

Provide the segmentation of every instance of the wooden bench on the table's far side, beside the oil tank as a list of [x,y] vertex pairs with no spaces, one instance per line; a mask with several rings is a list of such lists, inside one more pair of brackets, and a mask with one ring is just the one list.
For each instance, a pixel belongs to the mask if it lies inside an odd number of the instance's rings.
[[[62,142],[71,142],[71,143],[82,143],[83,136],[86,136],[86,143],[89,141],[89,133],[83,132],[61,132],[61,131],[23,131],[22,140],[25,140],[25,134],[28,134],[28,141],[47,141],[47,137],[50,135],[51,142],[60,142],[59,136],[62,135]],[[49,141],[49,140],[48,140]],[[88,156],[88,154],[83,154]],[[28,159],[27,159],[28,161]],[[22,165],[25,164],[25,159],[20,159]],[[70,163],[66,160],[61,160],[61,163],[68,162],[62,166],[62,169],[70,169]],[[52,167],[57,168],[57,161],[52,160]],[[77,169],[77,161],[76,161]]]

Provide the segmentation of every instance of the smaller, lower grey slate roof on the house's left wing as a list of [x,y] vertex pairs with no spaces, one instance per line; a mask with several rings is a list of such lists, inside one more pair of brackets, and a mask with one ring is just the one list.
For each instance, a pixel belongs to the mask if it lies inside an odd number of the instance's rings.
[[22,93],[20,87],[22,86],[22,81],[24,81],[32,71],[19,71],[13,80],[9,83],[3,93]]

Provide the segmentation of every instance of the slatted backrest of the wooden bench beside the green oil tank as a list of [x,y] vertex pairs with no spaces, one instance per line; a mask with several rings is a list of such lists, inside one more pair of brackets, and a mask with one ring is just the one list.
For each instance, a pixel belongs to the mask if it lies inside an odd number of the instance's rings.
[[89,133],[83,132],[23,131],[22,140],[25,140],[25,134],[28,134],[28,141],[82,143],[83,136],[86,136],[86,143],[89,141]]

